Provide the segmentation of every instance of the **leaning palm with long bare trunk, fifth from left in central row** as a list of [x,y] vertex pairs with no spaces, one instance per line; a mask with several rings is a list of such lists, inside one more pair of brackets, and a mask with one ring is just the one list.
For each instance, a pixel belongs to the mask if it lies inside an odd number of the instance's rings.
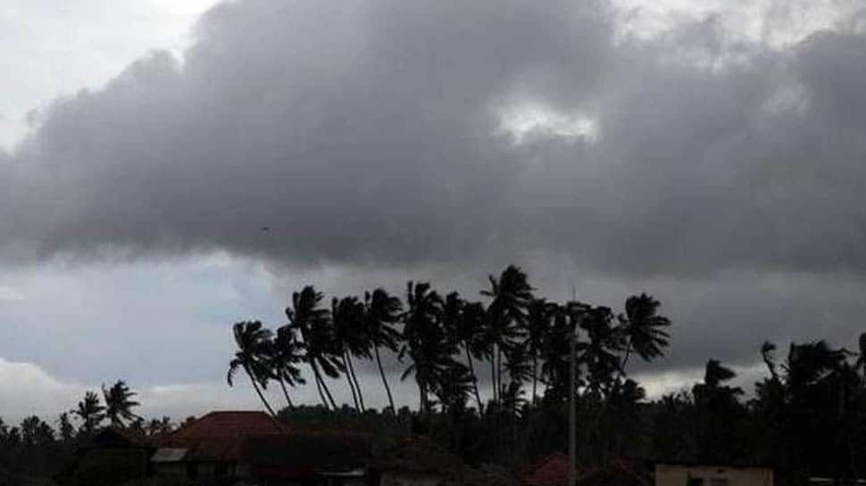
[[391,388],[387,384],[385,369],[382,367],[382,359],[379,349],[396,352],[399,348],[400,334],[394,325],[400,320],[403,304],[397,297],[391,296],[384,289],[376,289],[373,292],[364,292],[364,335],[371,346],[379,366],[379,375],[382,384],[385,385],[388,404],[391,413],[396,414],[394,397],[391,396]]

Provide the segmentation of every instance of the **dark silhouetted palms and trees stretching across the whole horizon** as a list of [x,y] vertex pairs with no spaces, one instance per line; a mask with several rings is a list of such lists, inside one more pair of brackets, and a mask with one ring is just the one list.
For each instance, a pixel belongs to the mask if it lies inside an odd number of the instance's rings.
[[[229,384],[243,373],[263,407],[296,428],[373,432],[379,445],[422,433],[472,464],[520,467],[565,450],[573,392],[582,465],[618,457],[762,463],[793,482],[809,474],[866,474],[859,466],[866,459],[866,339],[856,352],[822,341],[792,343],[780,358],[764,342],[755,356],[767,375],[754,393],[732,385],[734,372],[710,359],[703,382],[646,400],[630,366],[661,357],[670,330],[653,297],[628,297],[620,311],[546,301],[509,267],[490,277],[480,298],[411,282],[404,296],[376,289],[327,305],[321,292],[304,287],[292,296],[285,325],[233,326]],[[411,408],[395,407],[386,371],[395,357],[399,379],[417,384]],[[357,379],[362,360],[378,370],[374,391]],[[319,405],[292,401],[293,389],[308,380]],[[263,392],[274,386],[284,403]],[[368,407],[371,392],[392,405]],[[46,476],[104,426],[142,435],[171,431],[168,417],[137,416],[135,397],[119,381],[101,394],[88,391],[52,424],[36,416],[17,426],[0,421],[0,478]]]

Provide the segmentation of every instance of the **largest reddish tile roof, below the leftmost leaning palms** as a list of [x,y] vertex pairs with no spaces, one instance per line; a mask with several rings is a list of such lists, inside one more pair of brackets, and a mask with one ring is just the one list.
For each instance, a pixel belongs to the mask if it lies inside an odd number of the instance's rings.
[[211,412],[162,437],[159,447],[189,449],[186,460],[237,461],[247,437],[288,430],[264,412]]

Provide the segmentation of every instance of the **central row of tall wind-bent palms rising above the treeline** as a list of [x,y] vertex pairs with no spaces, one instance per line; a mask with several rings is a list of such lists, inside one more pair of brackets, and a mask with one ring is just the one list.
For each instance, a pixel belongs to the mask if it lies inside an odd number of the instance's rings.
[[[274,414],[263,390],[279,383],[287,407],[293,407],[289,390],[306,383],[301,370],[307,365],[326,408],[337,408],[328,379],[342,377],[354,408],[362,411],[366,404],[355,361],[374,360],[393,412],[382,356],[394,353],[405,366],[401,379],[412,376],[418,385],[422,412],[465,409],[474,400],[479,413],[491,407],[516,413],[527,402],[567,399],[575,335],[586,369],[579,392],[597,396],[621,386],[631,356],[651,360],[668,345],[670,320],[646,294],[629,297],[620,314],[579,301],[559,304],[537,296],[515,266],[489,276],[480,293],[485,301],[469,301],[457,292],[443,296],[428,283],[409,282],[404,301],[378,288],[362,298],[334,298],[328,308],[323,294],[306,286],[292,295],[287,322],[276,332],[260,321],[234,325],[237,350],[229,363],[229,386],[243,370]],[[479,386],[484,365],[492,390],[487,405]]]

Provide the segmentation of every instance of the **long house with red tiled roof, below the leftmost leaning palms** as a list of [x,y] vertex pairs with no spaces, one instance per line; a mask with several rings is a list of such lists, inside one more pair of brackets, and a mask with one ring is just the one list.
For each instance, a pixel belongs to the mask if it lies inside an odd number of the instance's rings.
[[162,437],[150,458],[165,482],[344,486],[367,480],[365,436],[290,431],[263,412],[211,412]]

